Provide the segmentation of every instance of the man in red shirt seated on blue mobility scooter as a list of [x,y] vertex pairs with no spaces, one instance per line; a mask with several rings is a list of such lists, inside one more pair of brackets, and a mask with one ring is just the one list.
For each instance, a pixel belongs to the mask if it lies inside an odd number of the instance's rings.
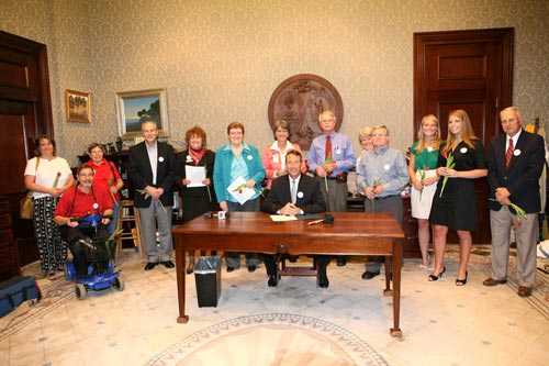
[[[55,223],[60,226],[61,239],[68,243],[72,254],[79,299],[86,297],[88,289],[114,286],[122,290],[119,274],[112,274],[110,259],[114,248],[105,246],[112,244],[105,242],[111,242],[107,226],[112,218],[113,200],[107,191],[93,189],[93,174],[89,165],[78,168],[78,184],[61,196],[54,217]],[[89,271],[90,264],[93,265],[93,273]]]

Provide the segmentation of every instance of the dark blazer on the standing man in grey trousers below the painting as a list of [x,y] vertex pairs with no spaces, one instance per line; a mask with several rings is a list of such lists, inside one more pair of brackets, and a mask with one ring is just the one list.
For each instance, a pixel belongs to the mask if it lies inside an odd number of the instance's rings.
[[145,142],[138,143],[130,148],[130,164],[127,174],[134,184],[134,202],[136,207],[147,208],[150,206],[150,197],[145,199],[137,190],[145,189],[146,186],[163,188],[160,202],[166,206],[173,206],[173,175],[176,157],[173,147],[166,143],[157,142],[158,162],[156,169],[156,185],[153,185],[153,168],[148,160],[147,147]]

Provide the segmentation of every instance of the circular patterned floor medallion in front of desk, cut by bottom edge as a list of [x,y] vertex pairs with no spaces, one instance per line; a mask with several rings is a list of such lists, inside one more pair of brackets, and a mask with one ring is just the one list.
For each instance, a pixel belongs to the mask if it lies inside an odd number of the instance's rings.
[[[235,350],[231,344],[247,344]],[[176,365],[386,365],[368,344],[332,323],[294,314],[224,321],[170,346],[148,363]]]

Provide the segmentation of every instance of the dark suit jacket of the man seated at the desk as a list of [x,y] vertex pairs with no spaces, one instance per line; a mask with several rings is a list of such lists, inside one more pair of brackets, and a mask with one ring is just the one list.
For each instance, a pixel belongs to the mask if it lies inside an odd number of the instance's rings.
[[[301,197],[300,197],[301,196]],[[290,176],[278,177],[272,180],[271,190],[265,198],[264,211],[277,213],[284,204],[292,201]],[[321,190],[321,181],[302,174],[298,185],[295,206],[304,213],[318,213],[326,211],[326,203]]]

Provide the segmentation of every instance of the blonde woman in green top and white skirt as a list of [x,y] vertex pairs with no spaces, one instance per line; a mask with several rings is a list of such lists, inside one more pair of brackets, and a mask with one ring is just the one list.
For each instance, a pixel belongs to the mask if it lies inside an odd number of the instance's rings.
[[411,202],[412,217],[417,219],[417,236],[422,252],[423,270],[433,270],[429,267],[429,213],[433,197],[437,189],[437,160],[440,147],[440,124],[438,119],[428,114],[422,120],[417,132],[417,141],[410,147],[408,175],[412,182]]

